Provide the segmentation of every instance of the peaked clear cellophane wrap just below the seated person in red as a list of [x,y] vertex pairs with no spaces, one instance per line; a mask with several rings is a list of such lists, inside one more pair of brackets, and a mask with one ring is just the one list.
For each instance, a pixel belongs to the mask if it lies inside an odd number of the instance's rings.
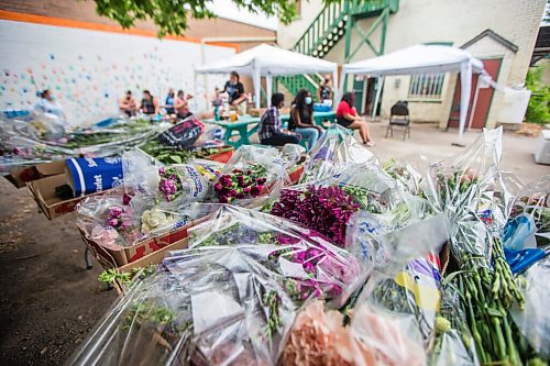
[[331,177],[351,164],[377,164],[377,160],[371,151],[355,141],[348,129],[333,125],[308,152],[299,184]]

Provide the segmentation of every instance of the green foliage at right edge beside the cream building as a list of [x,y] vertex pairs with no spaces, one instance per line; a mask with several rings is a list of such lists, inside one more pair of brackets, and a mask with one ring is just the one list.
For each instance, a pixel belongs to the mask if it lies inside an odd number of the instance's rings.
[[541,124],[550,122],[550,86],[541,82],[542,70],[543,68],[538,66],[527,71],[525,85],[532,92],[527,107],[527,122]]

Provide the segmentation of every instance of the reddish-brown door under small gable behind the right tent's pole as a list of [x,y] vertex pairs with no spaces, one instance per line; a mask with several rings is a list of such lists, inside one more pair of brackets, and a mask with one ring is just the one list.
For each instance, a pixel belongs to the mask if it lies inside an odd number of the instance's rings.
[[[501,71],[502,58],[485,58],[482,59],[483,67],[488,75],[496,80],[498,78],[498,73]],[[470,101],[466,114],[466,124],[464,129],[483,129],[487,123],[488,111],[491,109],[491,102],[493,101],[493,95],[495,90],[491,87],[480,88],[477,93],[477,101],[475,102],[475,111],[472,111],[472,106],[474,103],[475,88],[477,87],[480,76],[472,76],[472,91],[470,93]],[[473,118],[471,118],[472,112]],[[449,114],[449,127],[458,127],[460,122],[460,76],[457,79],[457,87],[454,89],[454,96],[452,99],[451,113]]]

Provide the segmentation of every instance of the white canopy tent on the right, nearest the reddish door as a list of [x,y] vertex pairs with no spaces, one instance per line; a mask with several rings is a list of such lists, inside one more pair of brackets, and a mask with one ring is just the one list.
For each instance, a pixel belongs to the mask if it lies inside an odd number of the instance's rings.
[[348,74],[378,77],[378,88],[374,101],[373,118],[380,100],[385,76],[460,73],[461,100],[459,138],[462,138],[468,115],[468,104],[472,89],[472,73],[486,74],[483,63],[464,49],[441,45],[415,45],[380,57],[345,64],[342,66],[340,89]]

